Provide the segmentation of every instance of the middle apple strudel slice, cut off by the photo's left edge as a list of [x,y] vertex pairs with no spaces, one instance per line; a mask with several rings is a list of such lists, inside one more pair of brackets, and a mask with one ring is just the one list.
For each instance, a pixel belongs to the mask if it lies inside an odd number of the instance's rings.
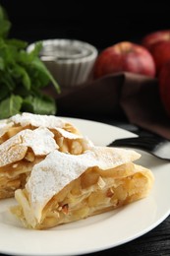
[[0,145],[0,199],[23,188],[33,165],[59,146],[46,128],[23,130]]

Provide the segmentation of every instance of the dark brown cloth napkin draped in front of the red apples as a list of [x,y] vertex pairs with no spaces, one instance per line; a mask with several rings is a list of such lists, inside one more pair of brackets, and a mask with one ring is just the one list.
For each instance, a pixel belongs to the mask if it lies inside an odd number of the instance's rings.
[[56,102],[59,115],[126,118],[132,124],[170,139],[170,117],[160,100],[157,79],[117,73],[81,87],[63,88]]

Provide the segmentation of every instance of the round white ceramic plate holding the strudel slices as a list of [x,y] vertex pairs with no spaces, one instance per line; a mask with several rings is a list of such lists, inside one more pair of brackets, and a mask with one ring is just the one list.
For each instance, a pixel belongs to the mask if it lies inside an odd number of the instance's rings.
[[[96,145],[116,138],[132,137],[123,129],[83,119],[66,118]],[[142,152],[141,152],[142,153]],[[24,228],[10,213],[14,199],[0,201],[0,253],[13,255],[80,255],[131,241],[170,214],[170,163],[142,153],[143,166],[150,168],[155,183],[149,196],[106,214],[64,224],[48,230]]]

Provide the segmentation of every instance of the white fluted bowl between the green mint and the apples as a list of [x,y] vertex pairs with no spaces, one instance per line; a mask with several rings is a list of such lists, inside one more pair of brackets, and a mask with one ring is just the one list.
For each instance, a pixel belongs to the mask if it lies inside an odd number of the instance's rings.
[[[35,43],[28,45],[28,51]],[[75,39],[42,40],[40,58],[62,87],[80,86],[90,78],[97,49]]]

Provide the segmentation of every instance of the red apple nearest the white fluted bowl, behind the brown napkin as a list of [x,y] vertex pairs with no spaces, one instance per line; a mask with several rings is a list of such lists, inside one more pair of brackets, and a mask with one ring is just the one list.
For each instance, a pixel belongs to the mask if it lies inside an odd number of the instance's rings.
[[155,76],[155,63],[149,51],[130,41],[118,42],[101,51],[94,63],[94,78],[117,72]]

